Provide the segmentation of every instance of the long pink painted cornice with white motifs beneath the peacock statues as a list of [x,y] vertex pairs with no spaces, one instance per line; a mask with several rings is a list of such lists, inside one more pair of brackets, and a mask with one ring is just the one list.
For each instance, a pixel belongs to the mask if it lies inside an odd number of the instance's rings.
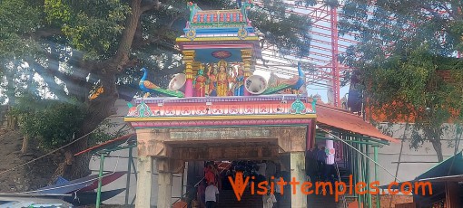
[[311,110],[311,104],[304,103],[300,99],[296,99],[296,101],[278,98],[274,100],[233,101],[236,99],[234,97],[228,100],[215,99],[215,101],[202,99],[202,102],[150,103],[147,105],[152,112],[149,118],[138,118],[138,109],[132,108],[129,109],[125,121],[316,118],[315,113]]

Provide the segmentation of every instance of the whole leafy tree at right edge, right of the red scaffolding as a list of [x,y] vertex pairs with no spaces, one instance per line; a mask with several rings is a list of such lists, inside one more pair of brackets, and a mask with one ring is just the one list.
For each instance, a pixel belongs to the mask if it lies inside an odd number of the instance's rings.
[[[461,1],[346,1],[340,33],[354,33],[344,62],[357,71],[369,109],[411,126],[410,147],[430,142],[443,160],[445,123],[463,119]],[[449,73],[452,80],[444,79]]]

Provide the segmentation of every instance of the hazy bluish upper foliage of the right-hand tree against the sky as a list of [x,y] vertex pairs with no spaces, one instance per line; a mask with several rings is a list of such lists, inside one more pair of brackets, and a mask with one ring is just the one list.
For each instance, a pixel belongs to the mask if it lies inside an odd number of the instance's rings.
[[340,13],[340,34],[357,33],[360,45],[374,45],[385,52],[427,43],[429,51],[450,55],[463,41],[461,9],[460,1],[384,0],[370,4],[348,0]]

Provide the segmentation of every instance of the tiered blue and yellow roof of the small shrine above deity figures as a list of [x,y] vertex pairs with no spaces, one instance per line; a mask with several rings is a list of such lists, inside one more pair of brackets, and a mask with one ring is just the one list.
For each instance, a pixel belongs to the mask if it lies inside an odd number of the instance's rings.
[[246,8],[231,10],[202,10],[188,3],[190,21],[183,29],[184,35],[176,42],[182,51],[195,52],[195,61],[241,62],[242,50],[251,50],[251,55],[261,58],[259,37],[247,18]]

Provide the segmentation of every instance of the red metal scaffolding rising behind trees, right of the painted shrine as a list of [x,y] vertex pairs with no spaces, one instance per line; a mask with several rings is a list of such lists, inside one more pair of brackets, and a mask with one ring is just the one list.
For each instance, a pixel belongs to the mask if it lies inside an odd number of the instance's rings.
[[[264,5],[256,1],[255,5]],[[286,2],[288,14],[298,14],[311,19],[310,54],[298,56],[294,52],[282,56],[277,49],[264,44],[262,58],[265,63],[258,62],[256,69],[271,71],[286,76],[296,75],[296,61],[307,62],[311,70],[305,71],[306,82],[310,86],[332,91],[330,105],[340,107],[340,80],[351,69],[340,64],[339,55],[351,45],[358,43],[354,40],[355,33],[348,33],[347,37],[340,37],[338,33],[338,7],[330,5],[301,6],[294,2]]]

